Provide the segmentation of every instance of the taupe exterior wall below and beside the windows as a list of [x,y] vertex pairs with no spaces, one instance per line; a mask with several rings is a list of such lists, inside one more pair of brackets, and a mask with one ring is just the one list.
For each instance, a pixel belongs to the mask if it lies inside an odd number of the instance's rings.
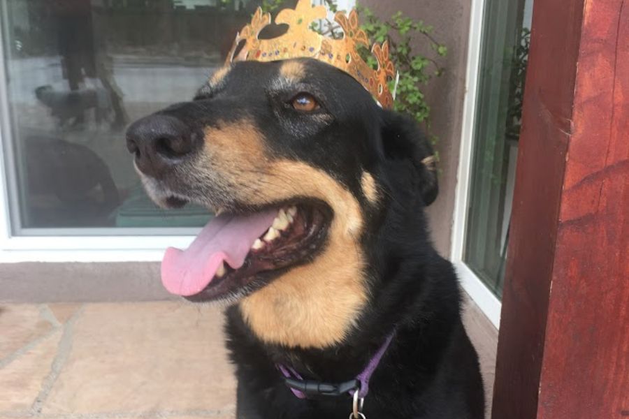
[[[397,10],[435,27],[435,37],[449,48],[442,59],[446,73],[425,93],[439,136],[440,194],[428,209],[433,240],[449,255],[454,187],[461,132],[470,6],[464,0],[363,0],[377,13]],[[423,45],[425,49],[428,45]],[[8,263],[0,264],[0,301],[161,300],[159,263]]]

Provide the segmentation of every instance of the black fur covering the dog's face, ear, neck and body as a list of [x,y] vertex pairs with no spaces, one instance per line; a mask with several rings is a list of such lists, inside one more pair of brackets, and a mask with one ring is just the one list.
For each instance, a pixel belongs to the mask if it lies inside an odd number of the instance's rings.
[[[458,281],[451,263],[433,248],[424,216],[438,192],[436,172],[427,163],[431,145],[411,119],[379,108],[349,75],[319,61],[301,62],[305,78],[294,83],[281,80],[281,62],[238,63],[217,85],[203,87],[195,101],[158,114],[183,122],[191,133],[218,122],[253,119],[273,155],[327,172],[356,197],[365,220],[359,244],[368,261],[370,300],[342,343],[324,349],[265,344],[243,321],[238,305],[228,310],[238,418],[347,418],[349,396],[298,399],[284,385],[277,363],[305,378],[347,381],[392,332],[391,346],[370,381],[367,418],[484,418],[482,379],[461,323]],[[300,91],[315,96],[321,110],[302,115],[287,107]],[[137,154],[135,144],[130,149]],[[377,203],[363,194],[364,171],[379,186]],[[199,203],[218,199],[212,198],[221,192],[215,186],[200,186],[198,178],[188,181],[183,172],[160,172],[159,182]],[[220,202],[231,209],[239,204]]]

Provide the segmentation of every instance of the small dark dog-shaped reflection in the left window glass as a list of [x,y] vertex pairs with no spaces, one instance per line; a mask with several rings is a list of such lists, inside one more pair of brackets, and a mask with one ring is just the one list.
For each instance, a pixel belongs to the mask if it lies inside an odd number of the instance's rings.
[[85,120],[85,112],[94,110],[94,121],[101,124],[112,112],[112,105],[106,89],[82,89],[78,91],[56,91],[50,85],[35,89],[35,96],[50,108],[50,115],[56,118],[59,126],[77,126]]

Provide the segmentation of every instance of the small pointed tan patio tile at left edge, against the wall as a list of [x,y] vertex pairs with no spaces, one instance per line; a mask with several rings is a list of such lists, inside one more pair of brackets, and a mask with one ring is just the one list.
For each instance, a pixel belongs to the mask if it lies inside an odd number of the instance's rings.
[[41,317],[36,305],[1,304],[0,362],[52,328],[53,325]]

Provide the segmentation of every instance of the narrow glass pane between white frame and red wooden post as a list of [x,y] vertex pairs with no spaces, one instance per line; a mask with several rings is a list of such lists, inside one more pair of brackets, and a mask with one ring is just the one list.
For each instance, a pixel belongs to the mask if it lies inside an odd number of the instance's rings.
[[463,260],[502,295],[532,0],[487,0]]

